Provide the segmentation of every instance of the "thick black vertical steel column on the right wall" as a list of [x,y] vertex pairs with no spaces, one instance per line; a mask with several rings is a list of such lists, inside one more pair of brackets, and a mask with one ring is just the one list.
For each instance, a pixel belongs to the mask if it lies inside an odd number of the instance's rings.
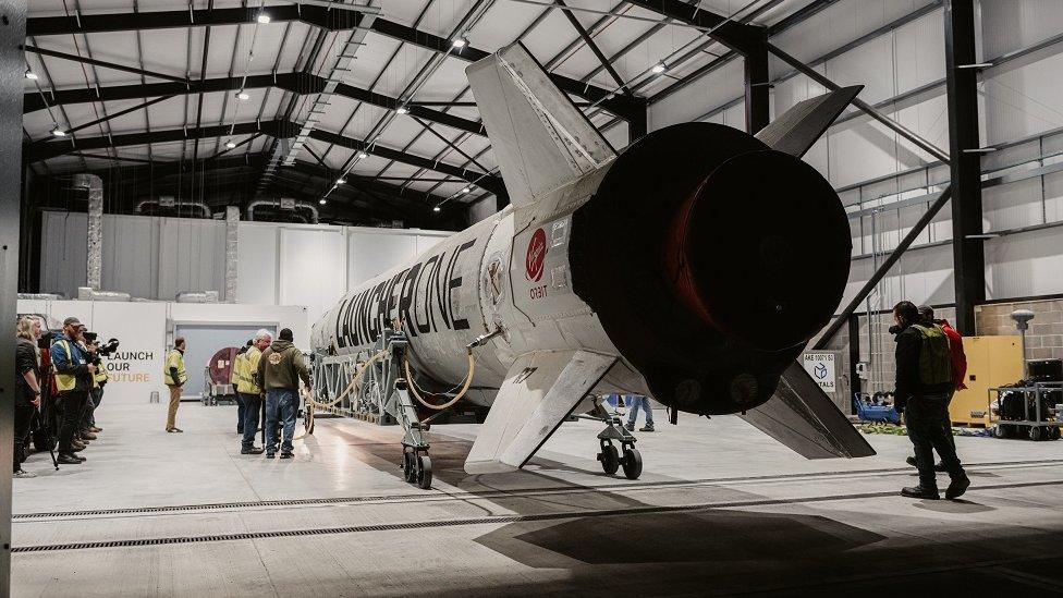
[[[982,233],[981,154],[978,142],[975,9],[970,0],[946,0],[945,74],[949,103],[949,161],[952,173],[952,257],[956,329],[975,333],[975,306],[986,301]],[[963,69],[961,66],[967,65]]]

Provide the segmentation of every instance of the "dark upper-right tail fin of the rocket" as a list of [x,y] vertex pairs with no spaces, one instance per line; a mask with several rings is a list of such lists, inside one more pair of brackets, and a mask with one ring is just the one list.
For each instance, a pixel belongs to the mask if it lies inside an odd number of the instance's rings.
[[863,85],[842,87],[798,101],[754,136],[771,149],[801,158],[863,88]]

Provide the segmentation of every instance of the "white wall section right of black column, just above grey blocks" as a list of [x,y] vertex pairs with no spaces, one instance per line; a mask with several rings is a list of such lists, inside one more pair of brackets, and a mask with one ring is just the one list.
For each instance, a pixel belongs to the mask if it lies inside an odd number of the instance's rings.
[[986,298],[1063,293],[1063,227],[986,242]]

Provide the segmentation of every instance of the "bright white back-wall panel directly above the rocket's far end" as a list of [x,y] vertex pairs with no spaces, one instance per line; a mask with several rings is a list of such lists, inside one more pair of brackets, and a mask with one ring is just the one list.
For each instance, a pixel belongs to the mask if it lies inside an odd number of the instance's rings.
[[281,305],[303,305],[317,320],[346,291],[346,241],[342,229],[281,229]]

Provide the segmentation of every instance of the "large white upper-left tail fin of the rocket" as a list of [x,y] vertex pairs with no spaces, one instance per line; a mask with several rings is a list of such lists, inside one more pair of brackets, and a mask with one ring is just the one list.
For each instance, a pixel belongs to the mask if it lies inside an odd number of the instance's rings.
[[514,206],[616,156],[521,44],[478,60],[465,74]]

